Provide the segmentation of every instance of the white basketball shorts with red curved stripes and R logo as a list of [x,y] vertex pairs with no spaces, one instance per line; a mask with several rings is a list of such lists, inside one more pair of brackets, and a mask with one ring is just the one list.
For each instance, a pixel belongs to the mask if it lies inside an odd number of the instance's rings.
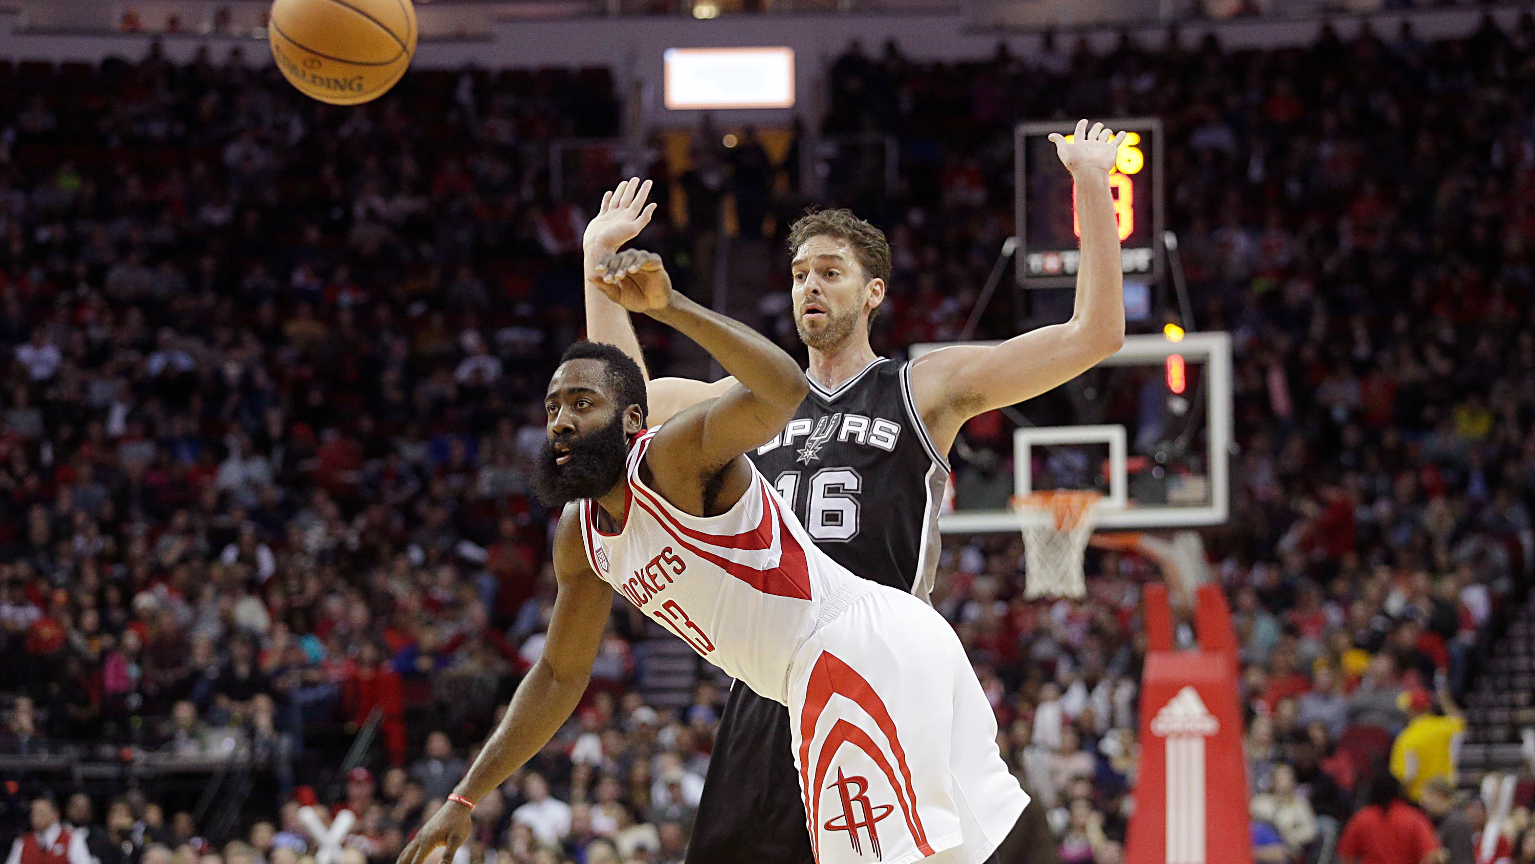
[[876,586],[789,669],[794,763],[818,864],[978,864],[1028,806],[953,628]]

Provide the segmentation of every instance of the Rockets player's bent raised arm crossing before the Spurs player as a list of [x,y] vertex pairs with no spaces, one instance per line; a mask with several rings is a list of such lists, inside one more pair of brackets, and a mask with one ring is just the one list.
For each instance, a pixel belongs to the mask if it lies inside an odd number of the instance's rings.
[[[603,262],[603,293],[629,312],[643,312],[675,327],[709,351],[735,379],[721,396],[677,414],[668,424],[672,451],[686,451],[689,465],[705,473],[761,445],[794,419],[810,385],[800,364],[783,348],[740,321],[732,321],[672,292],[660,256],[626,250]],[[685,420],[682,428],[677,420]],[[654,462],[652,462],[654,465]]]

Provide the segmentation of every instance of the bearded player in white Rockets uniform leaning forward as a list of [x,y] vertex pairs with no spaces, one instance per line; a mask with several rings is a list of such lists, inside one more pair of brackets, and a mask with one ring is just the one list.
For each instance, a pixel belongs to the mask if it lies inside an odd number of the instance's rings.
[[[537,754],[586,692],[612,591],[794,718],[783,741],[820,864],[996,864],[1028,806],[964,646],[932,606],[858,579],[812,543],[743,456],[809,385],[783,348],[674,295],[660,258],[597,270],[631,312],[703,345],[735,378],[646,430],[646,382],[614,345],[577,342],[545,396],[534,493],[563,506],[548,640],[505,718],[401,853],[444,861],[476,803]],[[801,830],[804,827],[801,826]]]

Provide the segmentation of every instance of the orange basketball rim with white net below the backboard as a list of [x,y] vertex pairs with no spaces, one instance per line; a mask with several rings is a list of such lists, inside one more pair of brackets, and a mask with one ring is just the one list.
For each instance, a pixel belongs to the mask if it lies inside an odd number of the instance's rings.
[[1013,497],[1024,533],[1024,599],[1082,597],[1082,552],[1093,536],[1102,493],[1051,490]]

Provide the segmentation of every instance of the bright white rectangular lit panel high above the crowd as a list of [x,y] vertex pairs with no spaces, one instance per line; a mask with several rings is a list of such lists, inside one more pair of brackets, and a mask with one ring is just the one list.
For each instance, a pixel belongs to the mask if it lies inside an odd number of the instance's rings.
[[[717,0],[698,0],[694,15],[706,8],[711,18],[720,9]],[[792,48],[668,48],[663,60],[672,110],[794,107]]]

